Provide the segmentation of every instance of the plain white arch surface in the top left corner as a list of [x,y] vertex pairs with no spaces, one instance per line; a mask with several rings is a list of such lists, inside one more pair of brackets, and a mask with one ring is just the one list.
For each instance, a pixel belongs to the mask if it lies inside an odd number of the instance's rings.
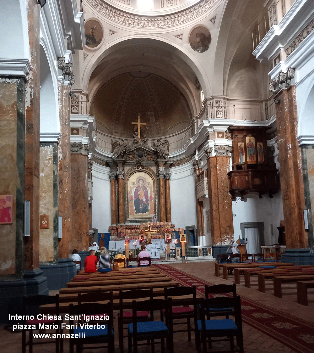
[[1,2],[0,31],[2,58],[30,59],[25,0]]

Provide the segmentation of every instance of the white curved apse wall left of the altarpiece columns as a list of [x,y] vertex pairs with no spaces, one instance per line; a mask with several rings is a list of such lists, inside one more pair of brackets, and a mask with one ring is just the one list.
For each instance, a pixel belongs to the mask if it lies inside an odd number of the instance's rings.
[[109,171],[109,167],[93,162],[92,224],[101,233],[108,233],[111,225]]

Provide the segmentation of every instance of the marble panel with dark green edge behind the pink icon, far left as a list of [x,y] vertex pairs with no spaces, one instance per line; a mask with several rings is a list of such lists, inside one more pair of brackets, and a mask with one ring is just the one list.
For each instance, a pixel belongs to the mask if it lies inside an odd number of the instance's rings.
[[[0,195],[12,195],[12,223],[0,224],[1,280],[21,279],[24,268],[25,83],[0,78]],[[6,205],[4,205],[6,207]]]

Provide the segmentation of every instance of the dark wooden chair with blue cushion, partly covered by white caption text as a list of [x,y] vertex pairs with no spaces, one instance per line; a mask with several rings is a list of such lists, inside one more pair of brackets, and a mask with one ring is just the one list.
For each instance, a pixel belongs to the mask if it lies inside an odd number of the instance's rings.
[[[76,345],[76,353],[81,353],[84,349],[84,345],[95,345],[99,343],[107,343],[108,352],[115,352],[115,335],[113,330],[113,306],[110,301],[107,304],[99,304],[99,303],[84,303],[80,305],[73,305],[72,303],[69,305],[70,312],[70,336],[77,338],[70,339],[70,353],[74,353],[74,345]],[[94,321],[97,321],[96,316],[104,315],[107,313],[109,319],[106,321],[98,321],[97,325],[99,327],[90,329],[85,328],[86,323],[86,315],[94,316]],[[80,319],[80,315],[85,315],[85,321]],[[77,328],[75,328],[75,316],[78,317]],[[82,327],[81,327],[82,325]],[[95,324],[96,325],[96,324]],[[92,348],[104,348],[99,346],[88,347]]]

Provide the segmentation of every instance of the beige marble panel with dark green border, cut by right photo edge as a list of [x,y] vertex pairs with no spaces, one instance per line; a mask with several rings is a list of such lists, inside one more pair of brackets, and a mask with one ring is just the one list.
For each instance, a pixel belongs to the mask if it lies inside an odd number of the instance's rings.
[[302,168],[304,183],[305,208],[308,217],[308,243],[311,252],[314,250],[313,224],[314,212],[314,145],[302,145]]

